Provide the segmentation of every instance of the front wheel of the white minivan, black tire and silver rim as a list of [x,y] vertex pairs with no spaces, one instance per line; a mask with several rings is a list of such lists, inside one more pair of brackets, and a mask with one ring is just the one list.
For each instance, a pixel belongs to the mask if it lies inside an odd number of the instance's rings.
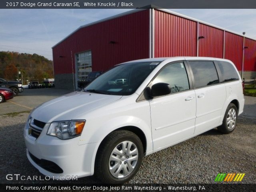
[[[128,147],[124,149],[123,146]],[[142,142],[136,134],[127,130],[114,131],[100,144],[94,175],[104,183],[127,182],[138,172],[143,156]]]

